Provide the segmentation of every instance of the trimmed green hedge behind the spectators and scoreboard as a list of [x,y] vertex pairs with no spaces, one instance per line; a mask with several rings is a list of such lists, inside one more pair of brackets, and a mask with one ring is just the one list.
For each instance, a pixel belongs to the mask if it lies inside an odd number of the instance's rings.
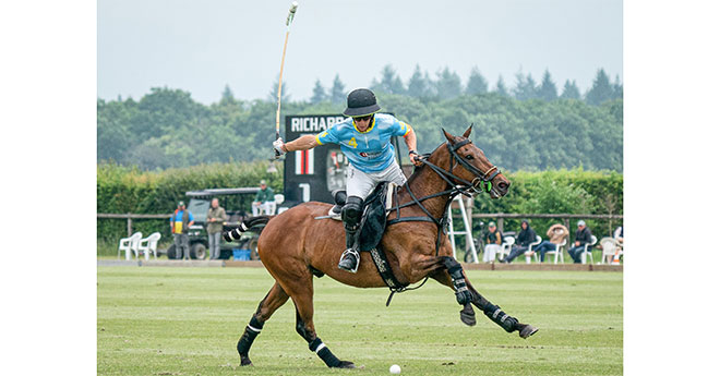
[[[257,186],[262,179],[275,192],[283,192],[283,167],[279,166],[278,173],[267,173],[267,161],[230,162],[141,171],[111,162],[100,163],[97,166],[97,213],[170,214],[179,199],[187,199],[187,191]],[[619,172],[586,171],[580,167],[504,173],[512,182],[511,192],[501,199],[477,195],[475,213],[623,213],[623,175]],[[530,223],[538,234],[544,236],[551,222],[556,221],[536,219]],[[587,222],[590,229],[599,228],[608,232],[608,223]],[[143,234],[160,231],[164,240],[170,239],[167,220],[133,220],[133,229]],[[475,223],[473,230],[480,231],[479,223]],[[505,230],[518,231],[519,220],[505,220]],[[98,240],[117,242],[127,236],[127,220],[98,219],[97,236]]]

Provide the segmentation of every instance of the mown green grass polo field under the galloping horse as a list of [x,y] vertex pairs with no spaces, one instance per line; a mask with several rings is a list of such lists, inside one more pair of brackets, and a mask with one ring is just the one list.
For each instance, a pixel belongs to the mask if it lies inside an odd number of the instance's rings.
[[[341,360],[329,369],[295,331],[288,301],[240,367],[236,343],[273,284],[263,268],[98,267],[100,375],[622,375],[623,275],[469,271],[473,286],[521,322],[523,340],[477,312],[459,320],[453,292],[434,281],[396,294],[315,279],[315,328]],[[477,310],[476,310],[477,311]]]

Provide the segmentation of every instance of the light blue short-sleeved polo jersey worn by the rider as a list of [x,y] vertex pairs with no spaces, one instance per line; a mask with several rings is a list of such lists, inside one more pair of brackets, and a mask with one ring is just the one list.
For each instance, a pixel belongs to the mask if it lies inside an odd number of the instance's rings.
[[410,124],[387,113],[375,113],[368,131],[360,132],[352,118],[333,125],[315,135],[317,144],[338,144],[350,163],[362,172],[379,172],[386,169],[395,158],[393,136],[405,136]]

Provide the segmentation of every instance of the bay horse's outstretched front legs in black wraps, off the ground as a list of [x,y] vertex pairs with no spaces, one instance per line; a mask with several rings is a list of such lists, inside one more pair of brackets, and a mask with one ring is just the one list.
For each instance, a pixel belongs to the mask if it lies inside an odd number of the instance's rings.
[[[518,330],[521,338],[528,338],[538,331],[536,327],[528,324],[521,324],[517,320],[517,318],[504,313],[500,306],[494,305],[489,300],[484,299],[472,287],[472,284],[470,284],[470,281],[465,276],[463,266],[460,266],[460,264],[455,258],[446,256],[441,258],[443,258],[445,270],[439,270],[431,277],[443,284],[452,287],[455,290],[457,302],[465,306],[463,312],[466,311],[470,303],[472,303],[475,306],[480,308],[485,314],[485,316],[488,316],[488,318],[500,325],[500,327],[505,329],[507,332]],[[460,317],[463,317],[463,312],[460,312]]]

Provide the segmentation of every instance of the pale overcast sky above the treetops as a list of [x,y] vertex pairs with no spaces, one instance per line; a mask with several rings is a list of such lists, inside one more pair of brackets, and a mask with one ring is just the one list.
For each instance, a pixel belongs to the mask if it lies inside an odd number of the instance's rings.
[[[97,95],[140,99],[151,87],[218,101],[267,98],[280,70],[291,1],[98,0]],[[623,81],[620,0],[302,0],[290,27],[283,81],[293,100],[309,99],[316,80],[339,74],[347,92],[368,87],[391,64],[401,80],[416,65],[435,77],[447,66],[467,83],[477,66],[494,87],[499,75],[540,82],[545,69],[559,90],[580,92],[598,69]]]

